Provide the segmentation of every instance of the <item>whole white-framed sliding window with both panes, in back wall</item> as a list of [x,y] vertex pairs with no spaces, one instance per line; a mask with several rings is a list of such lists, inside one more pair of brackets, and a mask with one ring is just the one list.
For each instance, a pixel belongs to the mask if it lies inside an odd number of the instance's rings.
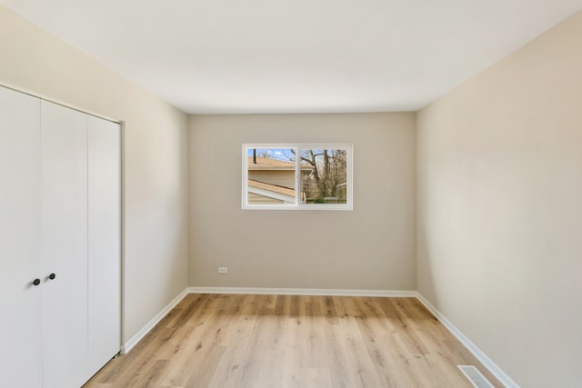
[[243,144],[243,209],[352,209],[351,144]]

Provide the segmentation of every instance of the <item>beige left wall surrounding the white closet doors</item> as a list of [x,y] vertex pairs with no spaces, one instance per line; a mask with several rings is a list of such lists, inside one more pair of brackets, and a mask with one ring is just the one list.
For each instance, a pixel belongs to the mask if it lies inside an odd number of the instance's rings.
[[187,285],[187,116],[0,6],[0,84],[125,123],[128,340]]

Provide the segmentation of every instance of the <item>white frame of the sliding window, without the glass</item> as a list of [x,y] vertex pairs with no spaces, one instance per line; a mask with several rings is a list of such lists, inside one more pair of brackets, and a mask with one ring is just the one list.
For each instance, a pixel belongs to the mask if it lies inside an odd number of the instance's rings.
[[[301,158],[296,157],[295,167],[295,202],[293,204],[248,204],[248,150],[253,148],[266,149],[296,149],[296,154],[300,154],[299,150],[303,149],[341,149],[346,150],[347,166],[346,166],[346,204],[302,204],[301,203]],[[243,165],[243,179],[242,179],[242,209],[243,210],[353,210],[354,209],[354,184],[353,184],[353,159],[354,159],[354,145],[347,143],[316,143],[316,144],[261,144],[261,143],[246,143],[242,147],[242,165]]]

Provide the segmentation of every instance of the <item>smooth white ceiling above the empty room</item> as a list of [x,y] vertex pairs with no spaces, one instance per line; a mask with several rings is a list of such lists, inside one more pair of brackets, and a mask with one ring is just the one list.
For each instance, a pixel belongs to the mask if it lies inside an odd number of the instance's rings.
[[416,111],[582,0],[0,0],[190,114]]

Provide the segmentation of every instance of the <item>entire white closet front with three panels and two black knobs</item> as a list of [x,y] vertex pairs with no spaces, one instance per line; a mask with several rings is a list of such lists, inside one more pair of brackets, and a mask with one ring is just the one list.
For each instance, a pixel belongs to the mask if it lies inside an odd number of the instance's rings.
[[0,382],[74,388],[120,349],[120,126],[0,87]]

